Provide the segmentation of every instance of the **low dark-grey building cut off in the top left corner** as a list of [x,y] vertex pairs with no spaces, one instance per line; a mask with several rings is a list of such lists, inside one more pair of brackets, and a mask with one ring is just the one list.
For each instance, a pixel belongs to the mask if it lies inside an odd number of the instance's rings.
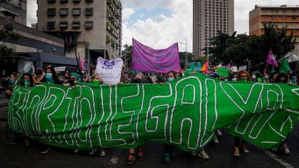
[[11,0],[0,4],[0,16],[26,25],[27,0]]

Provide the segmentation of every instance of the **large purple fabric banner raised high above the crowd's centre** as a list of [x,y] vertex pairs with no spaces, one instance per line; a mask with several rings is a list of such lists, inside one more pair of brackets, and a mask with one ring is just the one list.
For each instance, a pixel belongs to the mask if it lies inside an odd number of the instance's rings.
[[169,48],[154,50],[133,38],[132,68],[152,73],[167,73],[170,70],[179,73],[179,47],[174,43]]

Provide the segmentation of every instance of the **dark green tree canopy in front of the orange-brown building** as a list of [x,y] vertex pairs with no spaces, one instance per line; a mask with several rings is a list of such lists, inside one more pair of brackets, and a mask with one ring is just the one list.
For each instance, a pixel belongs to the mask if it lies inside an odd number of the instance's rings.
[[[273,23],[263,23],[262,36],[248,36],[234,32],[231,36],[219,31],[219,35],[211,38],[209,53],[211,61],[216,63],[234,63],[238,66],[246,65],[250,60],[253,64],[266,62],[271,49],[279,59],[285,53],[295,48],[293,33],[287,36],[287,27],[278,30]],[[205,48],[206,50],[207,48]]]

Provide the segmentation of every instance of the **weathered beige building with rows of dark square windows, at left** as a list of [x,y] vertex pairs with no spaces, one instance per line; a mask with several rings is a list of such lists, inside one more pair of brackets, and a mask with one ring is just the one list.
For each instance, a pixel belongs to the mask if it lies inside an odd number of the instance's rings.
[[63,38],[65,56],[75,53],[89,65],[96,59],[120,56],[122,4],[120,0],[44,0],[38,1],[39,31]]

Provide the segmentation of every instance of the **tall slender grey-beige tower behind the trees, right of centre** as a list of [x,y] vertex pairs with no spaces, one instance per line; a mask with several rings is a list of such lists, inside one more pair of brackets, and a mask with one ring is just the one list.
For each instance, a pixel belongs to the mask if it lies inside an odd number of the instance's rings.
[[[193,54],[204,56],[209,39],[234,33],[234,0],[193,0]],[[211,47],[211,46],[209,46]]]

